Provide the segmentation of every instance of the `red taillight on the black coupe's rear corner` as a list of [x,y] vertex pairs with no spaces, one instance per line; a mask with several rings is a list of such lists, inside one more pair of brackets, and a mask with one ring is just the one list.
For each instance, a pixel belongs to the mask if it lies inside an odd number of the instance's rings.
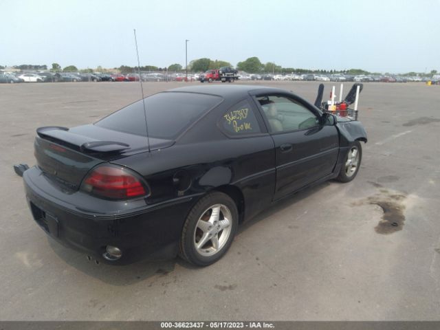
[[81,186],[92,195],[110,199],[129,199],[150,195],[146,184],[122,166],[103,165],[91,170]]

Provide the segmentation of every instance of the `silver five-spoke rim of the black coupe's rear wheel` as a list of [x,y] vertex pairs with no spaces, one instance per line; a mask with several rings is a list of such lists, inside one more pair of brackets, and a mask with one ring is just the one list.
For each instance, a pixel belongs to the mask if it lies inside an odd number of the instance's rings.
[[201,214],[194,231],[195,250],[201,256],[217,254],[228,242],[232,214],[223,204],[214,204]]

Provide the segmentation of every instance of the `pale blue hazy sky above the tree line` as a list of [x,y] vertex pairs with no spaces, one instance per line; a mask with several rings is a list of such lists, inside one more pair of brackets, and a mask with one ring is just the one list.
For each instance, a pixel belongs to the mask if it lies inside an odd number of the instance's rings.
[[201,57],[440,71],[440,0],[1,0],[0,65],[165,67]]

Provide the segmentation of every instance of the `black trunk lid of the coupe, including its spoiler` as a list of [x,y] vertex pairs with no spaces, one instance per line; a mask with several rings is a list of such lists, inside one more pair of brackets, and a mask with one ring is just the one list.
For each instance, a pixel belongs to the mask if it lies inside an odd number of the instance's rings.
[[[78,190],[91,168],[135,153],[148,151],[145,136],[122,133],[89,124],[72,129],[41,127],[34,142],[36,163],[43,173]],[[166,148],[173,141],[150,138],[150,149]]]

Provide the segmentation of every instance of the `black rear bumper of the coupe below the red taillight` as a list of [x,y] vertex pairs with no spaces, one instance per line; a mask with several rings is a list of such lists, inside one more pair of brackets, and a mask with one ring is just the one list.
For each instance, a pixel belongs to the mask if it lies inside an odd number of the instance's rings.
[[[144,202],[144,208],[120,212],[116,211],[120,201],[102,201],[94,210],[83,210],[75,201],[81,201],[84,196],[79,195],[84,192],[57,188],[36,166],[25,171],[23,182],[32,217],[49,236],[104,263],[119,265],[175,257],[186,214],[195,199],[173,199],[152,206]],[[109,203],[116,203],[113,210]],[[122,257],[104,259],[107,245],[120,248]]]

